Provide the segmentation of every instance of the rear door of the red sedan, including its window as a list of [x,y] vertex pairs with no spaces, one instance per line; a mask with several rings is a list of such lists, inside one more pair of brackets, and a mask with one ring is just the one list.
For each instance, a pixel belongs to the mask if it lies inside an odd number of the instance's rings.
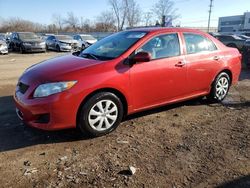
[[204,35],[183,33],[186,46],[187,85],[190,95],[209,91],[222,59],[216,45]]

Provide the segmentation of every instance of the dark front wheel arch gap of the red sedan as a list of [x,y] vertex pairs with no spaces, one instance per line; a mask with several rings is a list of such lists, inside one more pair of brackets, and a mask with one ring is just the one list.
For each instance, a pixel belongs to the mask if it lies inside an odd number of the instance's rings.
[[127,101],[127,98],[125,97],[125,95],[117,90],[117,89],[114,89],[114,88],[101,88],[101,89],[97,89],[91,93],[89,93],[81,102],[81,104],[79,105],[78,109],[77,109],[77,115],[76,115],[76,126],[78,126],[78,122],[79,122],[79,117],[80,117],[80,111],[81,111],[81,108],[82,106],[84,105],[84,103],[90,99],[92,96],[94,96],[95,94],[97,93],[100,93],[100,92],[110,92],[110,93],[113,93],[115,94],[117,97],[119,97],[119,99],[121,100],[122,102],[122,105],[123,105],[123,111],[124,111],[124,114],[123,114],[123,117],[126,116],[128,114],[128,101]]

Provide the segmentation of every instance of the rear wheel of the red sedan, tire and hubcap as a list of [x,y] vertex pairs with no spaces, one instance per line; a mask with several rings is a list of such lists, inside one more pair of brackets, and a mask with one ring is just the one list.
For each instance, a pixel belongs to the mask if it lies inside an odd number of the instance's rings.
[[231,84],[230,76],[226,72],[220,73],[212,84],[208,99],[211,102],[223,101],[229,91]]

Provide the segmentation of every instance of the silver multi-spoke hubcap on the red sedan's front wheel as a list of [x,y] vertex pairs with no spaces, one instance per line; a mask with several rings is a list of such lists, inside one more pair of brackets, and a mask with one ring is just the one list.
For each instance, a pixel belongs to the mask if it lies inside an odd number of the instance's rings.
[[89,125],[97,131],[105,131],[112,127],[118,117],[118,108],[111,100],[97,102],[89,111]]

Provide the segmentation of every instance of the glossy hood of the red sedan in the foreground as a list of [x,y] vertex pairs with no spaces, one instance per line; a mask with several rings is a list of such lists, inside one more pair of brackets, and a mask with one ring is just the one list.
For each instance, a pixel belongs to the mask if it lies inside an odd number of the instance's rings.
[[29,84],[61,81],[67,76],[69,76],[70,79],[75,79],[74,75],[76,74],[70,73],[81,71],[100,63],[102,63],[102,61],[85,59],[73,55],[56,57],[29,67],[21,76],[20,80]]

